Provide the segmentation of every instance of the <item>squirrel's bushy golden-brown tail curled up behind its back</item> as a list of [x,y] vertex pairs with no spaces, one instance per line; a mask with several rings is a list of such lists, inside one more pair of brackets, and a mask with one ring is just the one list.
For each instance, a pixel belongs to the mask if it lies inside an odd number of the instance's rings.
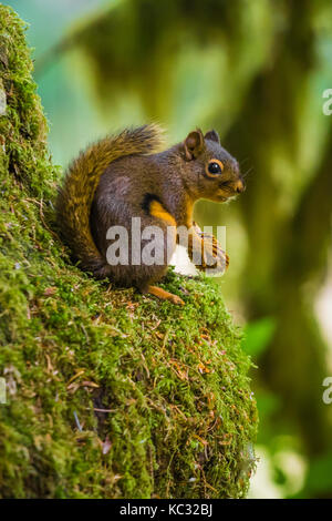
[[97,278],[108,274],[108,265],[98,252],[90,229],[90,213],[101,175],[116,159],[132,154],[151,154],[163,144],[163,131],[149,124],[124,130],[105,137],[81,152],[66,172],[56,201],[58,223],[64,242],[71,247],[80,267]]

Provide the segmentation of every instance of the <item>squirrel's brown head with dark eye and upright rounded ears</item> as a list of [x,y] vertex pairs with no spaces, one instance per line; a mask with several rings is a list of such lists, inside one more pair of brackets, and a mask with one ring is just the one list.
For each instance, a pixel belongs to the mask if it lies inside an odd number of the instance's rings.
[[184,181],[195,198],[224,203],[245,191],[238,162],[222,149],[215,130],[190,132],[180,149]]

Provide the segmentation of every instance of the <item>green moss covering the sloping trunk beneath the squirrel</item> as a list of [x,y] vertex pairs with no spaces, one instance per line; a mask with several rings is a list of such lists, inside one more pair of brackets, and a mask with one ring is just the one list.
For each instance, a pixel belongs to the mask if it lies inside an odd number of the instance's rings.
[[24,25],[0,23],[0,497],[243,497],[257,412],[219,287],[170,272],[179,308],[70,264]]

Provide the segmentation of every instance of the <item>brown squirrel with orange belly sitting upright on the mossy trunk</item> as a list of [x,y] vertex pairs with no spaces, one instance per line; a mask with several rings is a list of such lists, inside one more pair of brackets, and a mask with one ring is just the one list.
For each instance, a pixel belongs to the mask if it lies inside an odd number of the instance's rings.
[[[226,267],[228,257],[212,236],[204,235],[193,223],[197,200],[225,202],[243,192],[245,183],[237,161],[220,145],[216,131],[205,135],[199,129],[184,142],[164,152],[163,131],[155,124],[125,130],[87,147],[70,165],[56,204],[58,223],[80,267],[96,278],[110,277],[121,286],[135,286],[174,304],[184,304],[153,284],[167,270],[163,264],[143,262],[111,265],[107,262],[106,234],[112,226],[123,226],[131,235],[132,217],[142,226],[158,226],[165,232],[162,248],[174,252],[179,226],[190,228],[189,256],[206,249]],[[166,238],[167,228],[173,233]],[[129,243],[131,244],[131,243]],[[146,241],[142,239],[141,246]]]

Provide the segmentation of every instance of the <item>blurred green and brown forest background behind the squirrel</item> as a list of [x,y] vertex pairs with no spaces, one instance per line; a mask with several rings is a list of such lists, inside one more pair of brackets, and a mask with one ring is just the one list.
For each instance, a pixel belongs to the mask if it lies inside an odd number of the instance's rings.
[[[229,206],[220,279],[258,369],[252,498],[332,498],[332,88],[330,0],[13,0],[30,25],[50,151],[148,121],[169,143],[215,127],[248,172]],[[331,392],[332,397],[332,392]]]

